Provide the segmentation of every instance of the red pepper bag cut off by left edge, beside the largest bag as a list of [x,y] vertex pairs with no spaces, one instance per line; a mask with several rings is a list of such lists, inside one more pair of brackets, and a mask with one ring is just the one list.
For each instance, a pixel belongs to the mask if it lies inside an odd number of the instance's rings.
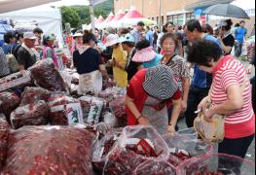
[[10,125],[3,114],[0,114],[0,171],[3,168],[7,156],[8,137]]

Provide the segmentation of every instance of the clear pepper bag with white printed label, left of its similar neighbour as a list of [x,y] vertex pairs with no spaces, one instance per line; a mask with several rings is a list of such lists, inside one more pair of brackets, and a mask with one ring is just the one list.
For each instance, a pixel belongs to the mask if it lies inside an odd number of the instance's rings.
[[64,94],[52,94],[49,103],[52,125],[84,123],[80,101]]

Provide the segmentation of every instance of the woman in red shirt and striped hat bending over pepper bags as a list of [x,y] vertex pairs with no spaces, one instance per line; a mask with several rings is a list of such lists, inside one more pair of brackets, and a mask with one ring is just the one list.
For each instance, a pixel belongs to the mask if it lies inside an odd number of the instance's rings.
[[[142,69],[130,80],[126,94],[128,125],[151,124],[161,134],[175,132],[181,110],[181,92],[165,65]],[[167,107],[173,105],[168,123]]]

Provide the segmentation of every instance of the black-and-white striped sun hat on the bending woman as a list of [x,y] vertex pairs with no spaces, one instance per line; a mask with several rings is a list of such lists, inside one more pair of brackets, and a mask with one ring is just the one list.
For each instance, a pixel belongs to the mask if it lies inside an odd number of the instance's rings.
[[148,69],[142,86],[149,95],[162,100],[172,97],[178,90],[173,72],[166,65]]

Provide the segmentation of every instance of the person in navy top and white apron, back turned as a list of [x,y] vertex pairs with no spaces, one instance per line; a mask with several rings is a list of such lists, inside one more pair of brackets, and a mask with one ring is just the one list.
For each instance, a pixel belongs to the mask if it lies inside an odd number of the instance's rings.
[[83,36],[84,45],[73,54],[74,67],[79,74],[79,94],[96,93],[102,89],[102,75],[108,80],[107,71],[100,53],[93,49],[95,37],[91,33]]

